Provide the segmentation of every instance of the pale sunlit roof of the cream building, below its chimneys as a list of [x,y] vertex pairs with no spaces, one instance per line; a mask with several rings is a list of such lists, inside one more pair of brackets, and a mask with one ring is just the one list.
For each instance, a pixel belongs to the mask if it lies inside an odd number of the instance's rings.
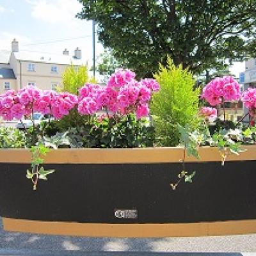
[[17,60],[22,61],[34,61],[34,62],[44,62],[44,63],[55,63],[70,65],[72,63],[75,66],[83,64],[82,60],[73,59],[72,56],[63,55],[63,54],[45,54],[40,52],[28,52],[28,51],[19,51],[13,52]]

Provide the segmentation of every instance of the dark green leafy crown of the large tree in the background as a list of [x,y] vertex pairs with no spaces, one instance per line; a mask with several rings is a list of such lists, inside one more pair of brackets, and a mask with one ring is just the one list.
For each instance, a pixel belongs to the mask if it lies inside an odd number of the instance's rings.
[[99,40],[140,77],[169,54],[200,74],[226,59],[255,56],[255,0],[78,0]]

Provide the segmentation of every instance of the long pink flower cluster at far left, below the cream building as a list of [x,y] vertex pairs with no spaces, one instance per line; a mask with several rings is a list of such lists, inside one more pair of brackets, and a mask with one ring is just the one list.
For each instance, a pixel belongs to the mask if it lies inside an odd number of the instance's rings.
[[20,119],[34,111],[60,119],[68,115],[77,101],[76,95],[70,93],[42,92],[35,86],[26,86],[17,93],[10,90],[0,95],[0,116],[4,120]]

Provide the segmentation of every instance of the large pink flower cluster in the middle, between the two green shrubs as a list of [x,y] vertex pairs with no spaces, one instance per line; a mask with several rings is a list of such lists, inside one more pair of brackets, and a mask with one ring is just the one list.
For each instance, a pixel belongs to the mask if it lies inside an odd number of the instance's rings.
[[136,113],[137,118],[148,116],[152,92],[158,92],[159,84],[154,79],[134,79],[131,70],[117,70],[106,87],[85,84],[79,91],[78,111],[92,115],[100,109],[110,113],[127,115]]

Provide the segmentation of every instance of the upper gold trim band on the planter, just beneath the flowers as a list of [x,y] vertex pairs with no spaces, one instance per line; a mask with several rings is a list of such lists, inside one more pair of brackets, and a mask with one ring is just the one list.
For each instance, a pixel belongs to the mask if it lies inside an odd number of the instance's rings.
[[[227,161],[256,160],[256,145],[243,146],[245,152],[239,156],[228,154]],[[219,162],[220,152],[217,148],[201,147],[198,149],[200,159],[185,157],[186,162]],[[61,148],[51,150],[44,163],[56,164],[118,164],[118,163],[179,163],[184,156],[180,147],[168,148]],[[0,163],[31,163],[28,149],[1,149]]]

